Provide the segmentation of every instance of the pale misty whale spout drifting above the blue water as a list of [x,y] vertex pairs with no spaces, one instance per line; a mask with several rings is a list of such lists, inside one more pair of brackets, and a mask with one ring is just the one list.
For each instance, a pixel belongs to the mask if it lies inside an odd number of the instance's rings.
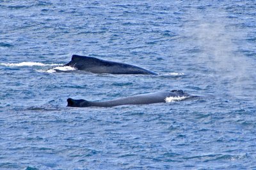
[[[237,44],[248,36],[244,29],[220,8],[192,11],[193,17],[184,25],[184,32],[199,51],[193,61],[218,76],[219,88],[227,89],[229,95],[255,98],[256,93],[245,92],[247,88],[256,87],[256,73],[252,71],[255,59],[241,53]],[[205,77],[208,78],[211,76]]]

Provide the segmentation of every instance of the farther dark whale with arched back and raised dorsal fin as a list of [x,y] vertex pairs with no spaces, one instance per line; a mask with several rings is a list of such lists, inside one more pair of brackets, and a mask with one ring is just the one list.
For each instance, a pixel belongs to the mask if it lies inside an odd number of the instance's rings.
[[109,74],[157,74],[153,71],[141,67],[101,60],[95,57],[86,57],[81,55],[72,55],[72,60],[65,66],[76,67],[78,70],[90,71],[92,73],[109,73]]

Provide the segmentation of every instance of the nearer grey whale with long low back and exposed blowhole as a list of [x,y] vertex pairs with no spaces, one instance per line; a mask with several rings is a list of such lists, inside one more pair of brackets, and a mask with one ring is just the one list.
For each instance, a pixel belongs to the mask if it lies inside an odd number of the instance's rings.
[[156,93],[148,93],[148,94],[140,94],[135,96],[123,97],[119,99],[113,99],[110,101],[86,101],[83,99],[75,100],[68,98],[67,102],[69,107],[112,107],[112,106],[120,106],[127,104],[152,104],[152,103],[166,103],[168,102],[168,97],[179,97],[179,99],[191,99],[193,97],[183,90],[172,90],[170,92],[156,92]]

